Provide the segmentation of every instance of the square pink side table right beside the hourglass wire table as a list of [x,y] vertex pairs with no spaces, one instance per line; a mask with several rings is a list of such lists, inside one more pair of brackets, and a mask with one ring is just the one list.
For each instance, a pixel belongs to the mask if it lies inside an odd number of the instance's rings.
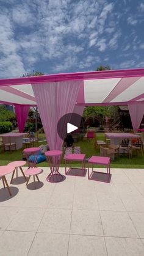
[[85,172],[85,154],[68,154],[65,157],[65,174],[68,174],[67,171],[67,161],[69,161],[69,169],[70,170],[70,162],[71,161],[79,161],[82,162],[82,171]]

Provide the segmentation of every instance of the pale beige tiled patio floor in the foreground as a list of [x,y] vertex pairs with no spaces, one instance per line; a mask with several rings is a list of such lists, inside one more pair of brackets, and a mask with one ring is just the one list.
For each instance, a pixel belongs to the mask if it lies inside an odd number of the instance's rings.
[[110,183],[43,170],[36,190],[13,180],[12,197],[0,180],[0,255],[144,255],[144,169],[112,169]]

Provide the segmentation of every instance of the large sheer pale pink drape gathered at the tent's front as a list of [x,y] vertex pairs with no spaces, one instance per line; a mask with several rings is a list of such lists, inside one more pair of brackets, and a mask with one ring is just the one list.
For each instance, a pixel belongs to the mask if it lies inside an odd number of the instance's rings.
[[62,148],[63,140],[57,134],[57,123],[60,117],[73,112],[81,82],[83,81],[61,81],[32,85],[41,122],[51,150]]

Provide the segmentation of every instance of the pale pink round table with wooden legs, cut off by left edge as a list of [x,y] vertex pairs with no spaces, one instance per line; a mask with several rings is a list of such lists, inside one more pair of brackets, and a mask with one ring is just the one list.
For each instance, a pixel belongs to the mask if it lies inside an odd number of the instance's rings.
[[10,172],[13,172],[13,170],[15,170],[15,166],[0,166],[0,176],[2,177],[2,183],[4,185],[4,188],[5,185],[7,186],[10,196],[12,196],[12,193],[10,192],[10,188],[5,178],[5,175],[10,174]]

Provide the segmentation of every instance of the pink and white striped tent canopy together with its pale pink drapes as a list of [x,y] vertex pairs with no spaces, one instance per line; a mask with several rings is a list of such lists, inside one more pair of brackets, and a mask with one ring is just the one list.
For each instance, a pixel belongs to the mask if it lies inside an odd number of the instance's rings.
[[128,105],[136,130],[144,113],[144,68],[0,79],[0,103],[37,105],[51,149],[61,147],[56,125],[74,106]]

